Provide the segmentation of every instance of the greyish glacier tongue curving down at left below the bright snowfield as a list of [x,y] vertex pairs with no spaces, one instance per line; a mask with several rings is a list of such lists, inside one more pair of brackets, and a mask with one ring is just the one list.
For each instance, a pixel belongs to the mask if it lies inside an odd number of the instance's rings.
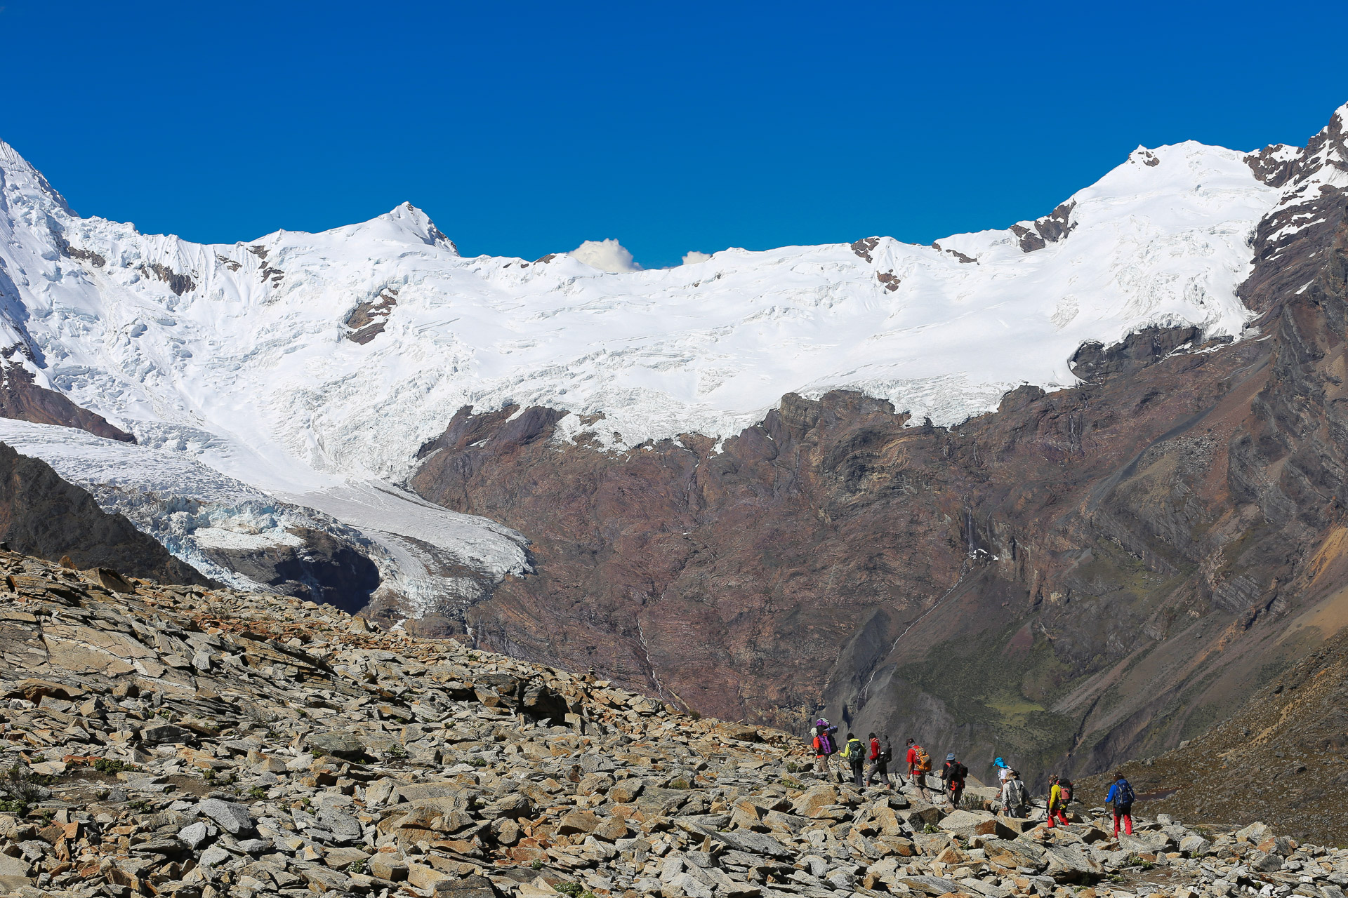
[[381,483],[271,495],[182,452],[3,417],[0,442],[40,458],[89,490],[104,510],[124,514],[177,557],[236,588],[267,584],[222,565],[218,549],[302,547],[295,533],[305,530],[360,547],[379,568],[383,588],[406,596],[417,617],[452,613],[507,574],[530,569],[519,533]]

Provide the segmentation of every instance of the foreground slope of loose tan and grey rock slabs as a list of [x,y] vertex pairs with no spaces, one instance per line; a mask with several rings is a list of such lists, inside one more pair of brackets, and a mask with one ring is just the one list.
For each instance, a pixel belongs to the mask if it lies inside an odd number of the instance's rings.
[[855,789],[785,732],[288,596],[3,552],[0,886],[173,898],[1306,895],[1264,824],[1049,828]]

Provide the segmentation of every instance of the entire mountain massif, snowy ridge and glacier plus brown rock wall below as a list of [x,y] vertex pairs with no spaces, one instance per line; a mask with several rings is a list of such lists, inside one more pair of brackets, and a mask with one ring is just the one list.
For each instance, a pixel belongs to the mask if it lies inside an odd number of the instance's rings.
[[0,436],[233,587],[1096,771],[1340,626],[1345,116],[1006,230],[625,275],[407,205],[144,236],[0,144],[7,364],[136,442]]

